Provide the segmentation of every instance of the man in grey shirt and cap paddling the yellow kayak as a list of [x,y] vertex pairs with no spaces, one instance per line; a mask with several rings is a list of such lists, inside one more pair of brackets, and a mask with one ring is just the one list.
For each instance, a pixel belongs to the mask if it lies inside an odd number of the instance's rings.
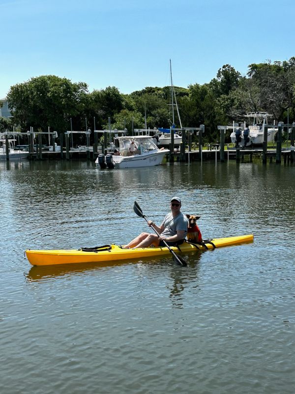
[[166,246],[165,241],[169,246],[180,245],[187,234],[188,220],[186,216],[180,212],[181,200],[179,197],[173,197],[170,201],[169,212],[162,224],[157,226],[151,220],[148,221],[148,226],[153,227],[160,234],[151,234],[149,232],[142,232],[136,238],[132,239],[124,249],[129,248],[147,248],[148,246]]

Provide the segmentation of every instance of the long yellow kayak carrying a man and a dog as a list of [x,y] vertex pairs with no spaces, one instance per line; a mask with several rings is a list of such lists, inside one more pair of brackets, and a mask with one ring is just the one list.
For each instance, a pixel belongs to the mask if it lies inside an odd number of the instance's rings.
[[[187,242],[178,247],[172,246],[175,253],[205,251],[207,249],[221,248],[223,246],[237,245],[252,242],[253,234],[240,235],[236,237],[216,238],[205,241],[205,245],[192,245]],[[26,250],[26,255],[32,265],[53,265],[53,264],[73,264],[73,263],[99,263],[118,260],[138,259],[142,257],[169,255],[167,247],[162,248],[138,248],[123,249],[119,245],[105,245],[97,247],[95,251],[84,249],[63,249],[63,250]]]

